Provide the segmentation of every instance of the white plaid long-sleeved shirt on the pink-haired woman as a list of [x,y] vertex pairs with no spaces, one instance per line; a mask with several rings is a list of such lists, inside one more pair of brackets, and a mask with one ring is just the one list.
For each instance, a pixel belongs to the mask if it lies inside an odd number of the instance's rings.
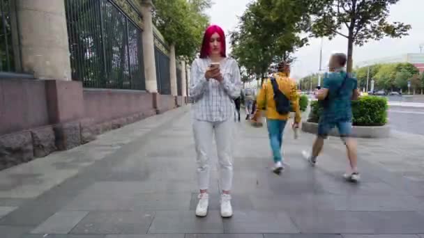
[[209,58],[196,58],[191,66],[190,93],[192,116],[197,120],[222,122],[234,116],[234,99],[240,96],[239,65],[233,58],[220,63],[224,80],[206,80],[204,74],[211,64]]

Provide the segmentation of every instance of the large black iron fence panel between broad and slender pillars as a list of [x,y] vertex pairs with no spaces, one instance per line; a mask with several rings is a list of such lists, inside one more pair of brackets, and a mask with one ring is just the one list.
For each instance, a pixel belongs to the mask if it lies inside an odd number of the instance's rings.
[[132,18],[112,0],[66,0],[73,80],[87,88],[145,89],[142,29]]

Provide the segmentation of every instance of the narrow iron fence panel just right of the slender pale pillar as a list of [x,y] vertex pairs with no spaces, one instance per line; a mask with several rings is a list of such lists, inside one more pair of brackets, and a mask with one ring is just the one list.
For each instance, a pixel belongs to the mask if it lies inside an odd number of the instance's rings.
[[158,36],[155,39],[155,61],[156,61],[156,81],[158,83],[158,93],[162,95],[171,94],[171,74],[169,70],[169,49]]

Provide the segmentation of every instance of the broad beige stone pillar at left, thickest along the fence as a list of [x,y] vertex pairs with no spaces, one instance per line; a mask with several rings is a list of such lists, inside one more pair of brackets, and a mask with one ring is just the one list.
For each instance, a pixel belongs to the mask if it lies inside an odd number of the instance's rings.
[[37,79],[71,80],[65,1],[17,0],[22,70]]

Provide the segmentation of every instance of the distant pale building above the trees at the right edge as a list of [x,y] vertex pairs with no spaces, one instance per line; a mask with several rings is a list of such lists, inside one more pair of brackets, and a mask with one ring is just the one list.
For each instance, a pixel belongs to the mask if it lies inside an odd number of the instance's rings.
[[361,68],[368,65],[375,65],[377,63],[411,63],[415,65],[420,73],[424,72],[424,54],[409,53],[399,56],[389,56],[384,58],[374,58],[368,61],[361,61],[356,63],[355,66]]

